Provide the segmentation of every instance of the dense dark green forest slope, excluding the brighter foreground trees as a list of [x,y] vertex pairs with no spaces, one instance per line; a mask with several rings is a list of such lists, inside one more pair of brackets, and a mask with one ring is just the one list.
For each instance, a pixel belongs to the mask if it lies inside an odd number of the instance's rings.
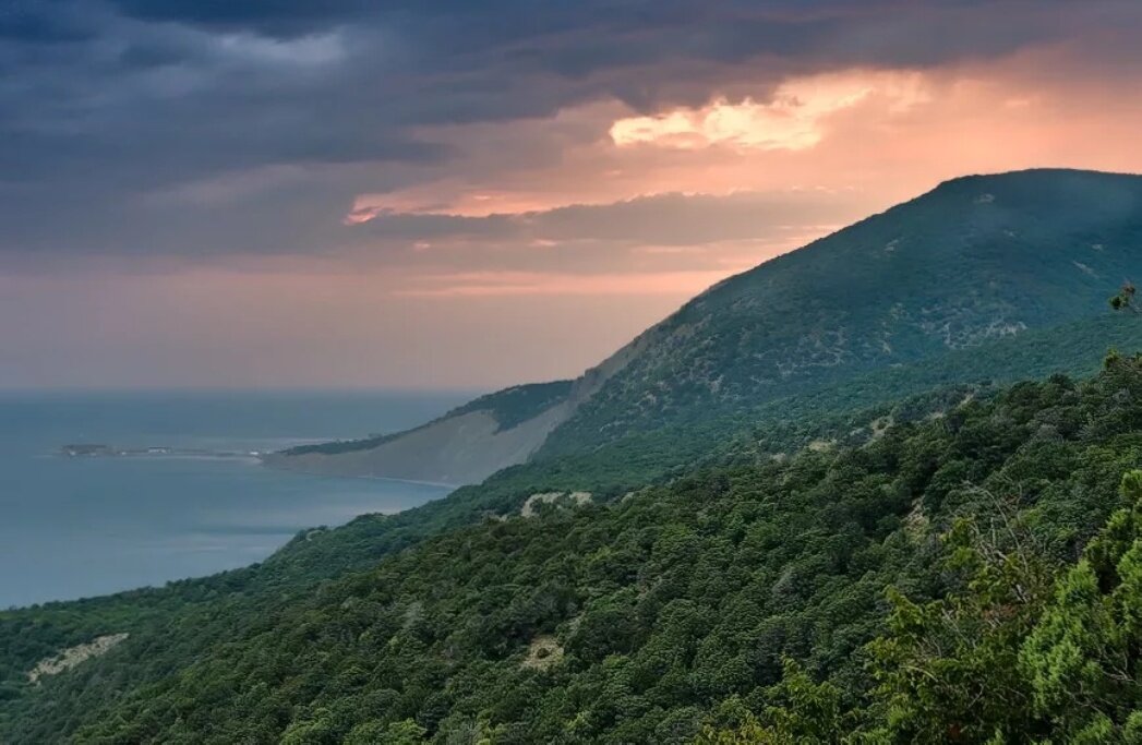
[[[682,743],[710,718],[773,703],[785,657],[853,707],[874,683],[862,650],[884,630],[885,588],[951,587],[939,532],[1018,514],[1037,560],[1069,561],[1140,463],[1142,361],[1131,359],[856,448],[490,520],[248,618],[234,642],[106,702],[78,739]],[[128,642],[45,687],[74,702],[145,655]],[[57,731],[35,712],[13,739]]]

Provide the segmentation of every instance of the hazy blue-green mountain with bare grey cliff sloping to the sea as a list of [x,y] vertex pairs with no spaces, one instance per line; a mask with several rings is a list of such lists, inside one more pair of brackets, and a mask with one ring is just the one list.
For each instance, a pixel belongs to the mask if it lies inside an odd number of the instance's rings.
[[957,178],[710,288],[564,384],[565,395],[528,409],[530,418],[497,412],[497,396],[522,386],[368,447],[270,462],[474,482],[529,458],[1089,318],[1137,277],[1142,177],[1044,169]]

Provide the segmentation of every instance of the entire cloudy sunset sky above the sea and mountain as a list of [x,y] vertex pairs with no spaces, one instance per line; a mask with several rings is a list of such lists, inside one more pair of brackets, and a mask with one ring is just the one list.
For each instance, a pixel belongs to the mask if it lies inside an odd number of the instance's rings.
[[5,0],[0,387],[494,388],[972,173],[1142,171],[1137,0]]

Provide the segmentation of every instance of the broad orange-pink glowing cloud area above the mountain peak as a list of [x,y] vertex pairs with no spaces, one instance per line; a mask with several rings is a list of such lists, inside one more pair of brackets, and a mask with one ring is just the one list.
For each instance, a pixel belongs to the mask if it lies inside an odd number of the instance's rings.
[[1142,151],[1121,146],[1142,126],[1124,94],[1142,82],[1140,73],[1052,72],[1072,66],[1065,49],[1046,48],[923,71],[796,77],[754,90],[743,70],[702,106],[642,114],[595,101],[547,119],[426,128],[424,139],[458,157],[439,171],[426,168],[416,186],[360,194],[354,215],[483,217],[798,187],[846,192],[876,211],[964,173],[1142,170]]

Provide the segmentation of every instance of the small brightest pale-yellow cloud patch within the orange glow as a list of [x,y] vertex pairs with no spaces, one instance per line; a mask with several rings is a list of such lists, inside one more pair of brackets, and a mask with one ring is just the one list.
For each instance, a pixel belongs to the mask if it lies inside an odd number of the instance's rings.
[[675,109],[653,117],[630,117],[610,129],[618,146],[652,144],[678,150],[730,145],[748,150],[807,150],[825,137],[825,120],[871,98],[903,112],[928,98],[924,79],[912,72],[845,72],[782,83],[761,103],[715,98],[700,109]]

